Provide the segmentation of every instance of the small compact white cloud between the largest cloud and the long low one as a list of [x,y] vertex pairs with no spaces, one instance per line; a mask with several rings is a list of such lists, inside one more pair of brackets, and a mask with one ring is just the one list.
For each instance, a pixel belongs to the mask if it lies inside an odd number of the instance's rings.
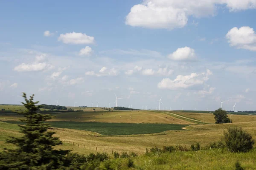
[[184,47],[184,48],[178,48],[175,52],[172,54],[169,54],[168,56],[172,60],[177,61],[191,61],[195,60],[195,50],[193,48]]

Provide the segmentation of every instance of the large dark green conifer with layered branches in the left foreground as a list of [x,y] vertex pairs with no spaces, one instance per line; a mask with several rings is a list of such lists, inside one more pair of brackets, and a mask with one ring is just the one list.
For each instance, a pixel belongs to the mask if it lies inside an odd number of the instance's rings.
[[34,102],[34,95],[27,99],[23,93],[25,102],[22,104],[27,109],[21,114],[25,119],[20,119],[25,125],[18,125],[22,137],[12,137],[7,143],[15,144],[17,149],[6,150],[0,154],[1,170],[35,170],[35,169],[58,169],[71,165],[72,159],[68,157],[70,150],[54,150],[53,146],[62,142],[52,135],[55,132],[47,131],[50,127],[45,121],[52,119],[49,114],[39,113]]

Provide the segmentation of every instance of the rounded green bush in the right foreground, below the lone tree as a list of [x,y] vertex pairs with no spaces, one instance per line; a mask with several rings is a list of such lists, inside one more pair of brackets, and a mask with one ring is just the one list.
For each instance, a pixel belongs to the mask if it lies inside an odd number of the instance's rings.
[[230,127],[227,131],[224,131],[220,143],[232,152],[247,152],[253,148],[255,142],[250,133],[247,133],[241,127]]

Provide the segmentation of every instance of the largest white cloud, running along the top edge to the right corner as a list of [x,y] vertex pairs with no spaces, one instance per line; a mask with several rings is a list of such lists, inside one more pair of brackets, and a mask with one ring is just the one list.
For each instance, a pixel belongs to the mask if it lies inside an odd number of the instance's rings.
[[218,5],[240,11],[256,8],[256,0],[143,0],[131,8],[125,23],[144,28],[182,28],[190,16],[216,15]]

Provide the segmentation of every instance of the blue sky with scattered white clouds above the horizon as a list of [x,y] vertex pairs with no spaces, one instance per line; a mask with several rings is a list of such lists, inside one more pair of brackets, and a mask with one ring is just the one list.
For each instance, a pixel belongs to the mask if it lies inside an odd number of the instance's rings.
[[256,0],[0,1],[0,103],[256,110],[254,16]]

